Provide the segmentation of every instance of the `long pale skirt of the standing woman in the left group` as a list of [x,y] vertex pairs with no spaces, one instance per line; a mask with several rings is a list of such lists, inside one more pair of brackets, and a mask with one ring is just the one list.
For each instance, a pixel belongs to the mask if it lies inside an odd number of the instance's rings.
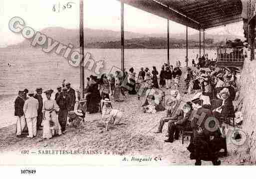
[[45,120],[43,120],[43,139],[52,138],[51,130],[50,130],[50,121],[54,123],[54,129],[58,135],[61,135],[61,127],[57,118],[57,114],[55,111],[49,113],[49,111],[45,111]]

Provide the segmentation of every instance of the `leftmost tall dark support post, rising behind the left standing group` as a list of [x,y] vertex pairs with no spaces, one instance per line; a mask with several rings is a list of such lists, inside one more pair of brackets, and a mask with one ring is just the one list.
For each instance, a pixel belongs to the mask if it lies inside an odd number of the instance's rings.
[[[83,37],[83,0],[80,0],[80,55],[84,57],[84,37]],[[84,99],[84,58],[80,62],[80,99]]]

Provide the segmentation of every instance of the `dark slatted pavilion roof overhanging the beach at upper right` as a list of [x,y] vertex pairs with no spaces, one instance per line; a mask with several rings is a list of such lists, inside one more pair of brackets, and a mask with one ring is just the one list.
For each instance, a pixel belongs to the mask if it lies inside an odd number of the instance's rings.
[[208,29],[242,21],[241,0],[123,1],[136,8],[195,29]]

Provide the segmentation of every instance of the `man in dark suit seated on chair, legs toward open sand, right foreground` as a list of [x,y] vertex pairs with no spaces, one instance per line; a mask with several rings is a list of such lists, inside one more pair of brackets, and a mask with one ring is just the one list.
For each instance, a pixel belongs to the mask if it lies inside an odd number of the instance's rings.
[[188,125],[189,118],[192,113],[192,103],[188,102],[184,105],[183,110],[179,110],[176,115],[168,122],[168,139],[165,142],[172,143],[174,138],[179,139],[180,128]]

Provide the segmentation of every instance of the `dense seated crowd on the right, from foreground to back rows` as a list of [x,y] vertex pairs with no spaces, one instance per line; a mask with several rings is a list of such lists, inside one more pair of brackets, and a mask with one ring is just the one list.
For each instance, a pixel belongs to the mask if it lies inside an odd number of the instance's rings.
[[[168,123],[168,139],[165,142],[173,143],[179,139],[180,131],[193,129],[193,137],[190,144],[191,158],[196,159],[195,165],[201,165],[201,160],[212,161],[214,165],[220,165],[218,153],[223,149],[223,128],[212,132],[205,127],[205,121],[209,117],[218,120],[218,124],[231,124],[230,119],[235,117],[233,101],[236,98],[236,69],[227,67],[216,70],[214,67],[193,71],[187,68],[185,79],[190,95],[194,93],[192,101],[187,101],[182,109],[178,109],[181,98],[178,91],[173,90],[171,99],[168,100],[169,109],[165,117],[160,119],[158,130],[162,133],[165,123]],[[192,115],[192,112],[195,115]],[[199,116],[204,114],[204,120],[198,124]],[[235,124],[234,124],[235,125]],[[193,146],[193,147],[191,147]]]

